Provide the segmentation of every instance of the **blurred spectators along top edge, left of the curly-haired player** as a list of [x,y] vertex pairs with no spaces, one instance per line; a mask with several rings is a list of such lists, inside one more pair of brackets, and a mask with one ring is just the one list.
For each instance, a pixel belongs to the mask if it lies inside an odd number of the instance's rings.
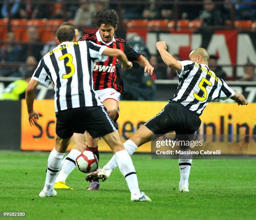
[[2,5],[0,4],[0,18],[8,18],[8,3],[11,3],[9,4],[11,18],[75,19],[77,25],[83,26],[92,25],[91,16],[96,8],[103,8],[109,5],[108,0],[77,0],[74,4],[63,4],[62,0],[56,0],[54,5],[32,4],[31,0],[4,0],[4,2]]

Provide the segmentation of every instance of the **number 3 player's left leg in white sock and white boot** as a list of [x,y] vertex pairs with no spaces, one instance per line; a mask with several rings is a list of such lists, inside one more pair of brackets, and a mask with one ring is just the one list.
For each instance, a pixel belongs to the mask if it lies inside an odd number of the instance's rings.
[[57,136],[56,145],[48,158],[46,180],[44,189],[39,193],[39,197],[54,197],[57,192],[54,190],[54,183],[61,166],[61,160],[67,151],[70,138],[60,138]]

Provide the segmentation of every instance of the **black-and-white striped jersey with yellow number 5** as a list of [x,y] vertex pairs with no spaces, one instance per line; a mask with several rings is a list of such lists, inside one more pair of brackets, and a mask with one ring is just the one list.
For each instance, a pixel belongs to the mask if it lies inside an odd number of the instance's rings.
[[207,65],[189,60],[180,62],[182,70],[177,72],[179,84],[171,100],[201,115],[211,101],[217,98],[226,100],[235,95],[223,79],[216,77]]

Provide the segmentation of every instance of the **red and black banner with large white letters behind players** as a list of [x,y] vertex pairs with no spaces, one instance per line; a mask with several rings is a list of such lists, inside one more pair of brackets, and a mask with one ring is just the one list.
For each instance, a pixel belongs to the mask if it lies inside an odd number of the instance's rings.
[[[156,55],[156,42],[166,41],[167,50],[187,60],[189,53],[199,47],[207,49],[210,55],[218,57],[218,65],[256,65],[256,33],[237,30],[198,30],[191,31],[145,31],[143,28],[129,29],[127,36],[142,36],[151,54]],[[232,67],[223,67],[232,76]],[[238,67],[237,76],[243,77],[243,67]]]

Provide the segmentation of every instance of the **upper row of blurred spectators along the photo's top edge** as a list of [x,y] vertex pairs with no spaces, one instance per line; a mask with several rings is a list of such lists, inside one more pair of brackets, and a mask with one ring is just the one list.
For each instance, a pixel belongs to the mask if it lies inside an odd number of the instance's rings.
[[[177,8],[174,10],[175,6],[170,4],[169,0],[162,1],[166,4],[156,4],[156,0],[139,0],[139,5],[136,7],[133,4],[122,3],[120,9],[124,19],[171,20],[174,19],[175,11],[178,11],[178,19],[203,20],[204,25],[222,25],[226,20],[231,19],[231,3],[235,3],[236,20],[256,20],[256,5],[244,4],[253,3],[255,0],[223,0],[224,4],[217,5],[213,4],[213,0],[201,0],[201,5],[181,4],[178,10]],[[190,1],[193,2],[193,0]],[[0,4],[0,18],[8,17],[8,3],[11,3],[11,18],[74,19],[78,26],[92,25],[91,15],[96,8],[110,6],[115,10],[119,9],[117,4],[111,3],[111,0],[80,0],[74,4],[69,3],[66,7],[62,0],[56,0],[54,7],[49,7],[49,4],[32,4],[31,0],[4,0],[4,3]]]

